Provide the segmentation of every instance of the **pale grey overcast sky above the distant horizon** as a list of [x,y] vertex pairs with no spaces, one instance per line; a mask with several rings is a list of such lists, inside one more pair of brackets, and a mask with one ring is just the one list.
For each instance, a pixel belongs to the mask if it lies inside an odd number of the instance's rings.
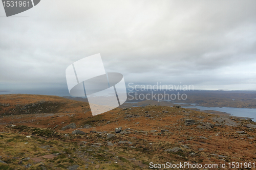
[[256,90],[255,0],[41,0],[0,16],[0,90],[68,90],[66,68],[98,53],[126,84]]

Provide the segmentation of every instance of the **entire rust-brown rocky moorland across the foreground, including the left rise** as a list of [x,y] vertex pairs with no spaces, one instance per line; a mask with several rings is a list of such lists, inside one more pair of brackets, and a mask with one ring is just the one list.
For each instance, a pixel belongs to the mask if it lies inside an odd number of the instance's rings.
[[[151,162],[219,169],[225,162],[256,162],[256,124],[247,119],[153,105],[92,116],[87,103],[56,96],[0,96],[0,169],[150,169]],[[40,100],[58,103],[57,111],[3,111]]]

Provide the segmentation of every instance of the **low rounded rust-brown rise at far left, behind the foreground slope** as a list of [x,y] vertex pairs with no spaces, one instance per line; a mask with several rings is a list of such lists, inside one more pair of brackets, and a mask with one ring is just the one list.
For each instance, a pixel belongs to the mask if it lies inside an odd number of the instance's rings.
[[50,95],[0,95],[0,116],[33,113],[86,112],[89,104]]

